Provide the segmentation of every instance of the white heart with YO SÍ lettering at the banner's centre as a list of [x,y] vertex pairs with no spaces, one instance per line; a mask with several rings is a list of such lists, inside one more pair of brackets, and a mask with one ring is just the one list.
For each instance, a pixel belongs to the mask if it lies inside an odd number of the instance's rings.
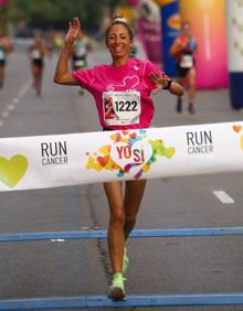
[[145,163],[151,158],[152,148],[148,142],[136,141],[131,146],[125,142],[118,142],[112,146],[110,158],[124,170],[129,172],[129,169],[139,171]]

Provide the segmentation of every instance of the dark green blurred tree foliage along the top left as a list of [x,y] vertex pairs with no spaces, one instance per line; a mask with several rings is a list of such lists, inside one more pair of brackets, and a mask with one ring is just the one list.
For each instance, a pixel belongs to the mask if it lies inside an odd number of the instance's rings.
[[14,23],[24,20],[28,28],[62,30],[67,28],[70,20],[78,17],[84,29],[97,31],[107,7],[114,9],[124,3],[125,0],[9,0],[4,15]]

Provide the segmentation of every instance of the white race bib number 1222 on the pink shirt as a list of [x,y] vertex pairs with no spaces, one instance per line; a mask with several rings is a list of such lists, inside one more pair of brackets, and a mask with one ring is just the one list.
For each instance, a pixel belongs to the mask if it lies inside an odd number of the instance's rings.
[[140,93],[136,90],[105,92],[103,93],[103,111],[107,126],[139,124]]

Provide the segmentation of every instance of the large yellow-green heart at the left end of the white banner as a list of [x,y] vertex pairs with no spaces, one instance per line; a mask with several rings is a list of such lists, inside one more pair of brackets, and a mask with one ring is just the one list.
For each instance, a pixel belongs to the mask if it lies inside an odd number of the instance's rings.
[[0,157],[0,181],[13,187],[22,179],[28,169],[28,160],[21,154],[13,156],[10,160]]

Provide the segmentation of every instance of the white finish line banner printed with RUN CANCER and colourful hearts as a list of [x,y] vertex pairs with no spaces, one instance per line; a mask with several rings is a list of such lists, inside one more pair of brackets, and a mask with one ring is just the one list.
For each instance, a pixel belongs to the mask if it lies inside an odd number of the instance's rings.
[[243,122],[0,139],[0,191],[243,171]]

